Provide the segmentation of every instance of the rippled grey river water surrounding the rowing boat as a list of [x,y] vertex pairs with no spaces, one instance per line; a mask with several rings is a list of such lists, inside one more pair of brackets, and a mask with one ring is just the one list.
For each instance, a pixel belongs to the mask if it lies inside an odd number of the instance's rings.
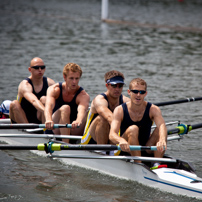
[[[109,0],[103,23],[99,0],[0,1],[0,102],[16,98],[29,75],[30,60],[41,57],[45,75],[62,81],[62,69],[83,69],[80,85],[91,100],[105,91],[104,74],[116,69],[148,83],[147,100],[200,97],[202,85],[202,2],[197,0]],[[201,122],[200,101],[161,107],[166,122]],[[167,154],[191,162],[202,177],[201,129]],[[99,172],[63,165],[31,152],[0,151],[0,201],[193,201]],[[194,200],[196,201],[196,200]]]

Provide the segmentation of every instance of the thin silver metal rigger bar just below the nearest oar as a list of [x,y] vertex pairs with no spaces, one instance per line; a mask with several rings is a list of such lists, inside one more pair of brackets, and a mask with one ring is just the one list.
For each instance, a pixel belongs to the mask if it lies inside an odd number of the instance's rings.
[[167,163],[176,163],[176,159],[170,158],[154,158],[154,157],[143,157],[143,156],[84,156],[84,155],[49,155],[50,158],[78,158],[78,159],[107,159],[107,160],[138,160],[144,162],[167,162]]

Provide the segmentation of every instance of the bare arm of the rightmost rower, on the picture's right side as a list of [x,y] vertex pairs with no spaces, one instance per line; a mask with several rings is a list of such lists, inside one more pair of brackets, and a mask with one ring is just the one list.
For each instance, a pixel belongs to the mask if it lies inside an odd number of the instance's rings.
[[152,120],[154,120],[157,128],[159,129],[159,141],[156,146],[159,151],[163,151],[164,147],[167,149],[167,128],[159,107],[152,105],[150,110]]

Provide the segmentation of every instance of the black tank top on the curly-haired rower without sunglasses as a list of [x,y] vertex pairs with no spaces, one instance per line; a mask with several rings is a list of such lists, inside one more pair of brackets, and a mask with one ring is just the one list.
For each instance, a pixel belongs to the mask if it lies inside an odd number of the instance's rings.
[[60,88],[60,95],[59,95],[58,99],[55,102],[55,107],[53,109],[53,113],[56,110],[58,110],[62,105],[69,105],[70,108],[71,108],[70,123],[72,123],[72,121],[75,121],[76,118],[77,118],[78,105],[76,104],[76,97],[83,90],[83,88],[82,87],[79,88],[79,90],[76,92],[75,96],[73,97],[73,99],[70,102],[65,102],[63,100],[63,97],[62,97],[62,82],[59,82],[59,88]]

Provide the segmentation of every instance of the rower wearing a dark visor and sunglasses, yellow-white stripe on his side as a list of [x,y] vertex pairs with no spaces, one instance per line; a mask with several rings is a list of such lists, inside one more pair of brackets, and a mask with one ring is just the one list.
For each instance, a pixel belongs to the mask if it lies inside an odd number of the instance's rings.
[[107,144],[114,109],[130,100],[122,95],[124,75],[121,72],[109,71],[104,78],[107,91],[91,103],[81,144]]

